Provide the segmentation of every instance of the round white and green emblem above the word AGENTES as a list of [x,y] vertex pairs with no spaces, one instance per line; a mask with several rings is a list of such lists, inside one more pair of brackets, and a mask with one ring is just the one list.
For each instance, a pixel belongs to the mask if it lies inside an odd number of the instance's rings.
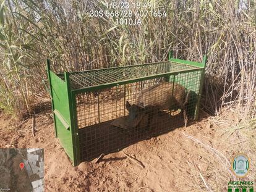
[[249,171],[249,158],[244,154],[238,154],[232,162],[232,170],[237,177],[245,177]]

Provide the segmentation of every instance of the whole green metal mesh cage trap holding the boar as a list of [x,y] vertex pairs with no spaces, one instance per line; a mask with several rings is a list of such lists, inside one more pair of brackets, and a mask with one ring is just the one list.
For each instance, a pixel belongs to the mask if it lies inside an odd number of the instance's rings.
[[[170,53],[165,62],[56,74],[48,60],[55,133],[73,165],[182,127],[182,111],[189,122],[197,120],[205,64],[206,56],[192,62]],[[186,105],[154,106],[166,94],[184,101],[176,92],[187,93],[181,96],[187,96]],[[143,104],[138,98],[144,98]],[[138,118],[131,121],[132,115]]]

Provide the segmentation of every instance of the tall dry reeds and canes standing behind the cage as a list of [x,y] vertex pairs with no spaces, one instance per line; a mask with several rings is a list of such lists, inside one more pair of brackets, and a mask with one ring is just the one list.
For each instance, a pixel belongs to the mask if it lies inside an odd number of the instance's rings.
[[174,50],[191,61],[208,55],[204,111],[218,114],[228,105],[243,119],[256,115],[255,0],[145,0],[167,17],[143,17],[136,26],[89,17],[108,10],[106,0],[0,2],[0,108],[8,114],[29,115],[47,96],[46,58],[62,72],[165,61]]

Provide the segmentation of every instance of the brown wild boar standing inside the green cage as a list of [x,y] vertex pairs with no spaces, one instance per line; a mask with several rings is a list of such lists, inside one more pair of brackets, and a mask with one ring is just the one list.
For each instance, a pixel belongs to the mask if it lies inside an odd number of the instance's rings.
[[[184,123],[187,127],[187,102],[189,93],[184,86],[173,82],[163,82],[151,88],[143,90],[137,96],[136,104],[126,102],[126,109],[129,111],[128,124],[130,127],[139,125],[141,114],[147,115],[148,124],[156,111],[176,111],[181,109],[184,115]],[[170,114],[171,115],[171,114]]]

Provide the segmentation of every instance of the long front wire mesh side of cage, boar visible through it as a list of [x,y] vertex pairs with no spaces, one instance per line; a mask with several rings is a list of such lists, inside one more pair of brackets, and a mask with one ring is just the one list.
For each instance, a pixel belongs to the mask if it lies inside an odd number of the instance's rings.
[[182,127],[184,111],[191,123],[200,77],[189,72],[77,94],[80,160]]

